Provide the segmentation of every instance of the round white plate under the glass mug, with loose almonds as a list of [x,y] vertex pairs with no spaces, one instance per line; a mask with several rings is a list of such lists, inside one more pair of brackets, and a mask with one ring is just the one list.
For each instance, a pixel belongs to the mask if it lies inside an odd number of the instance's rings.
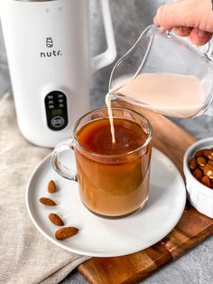
[[[74,155],[69,157],[74,162]],[[186,190],[181,174],[171,160],[153,149],[150,195],[144,208],[120,219],[105,219],[90,213],[81,204],[78,184],[66,180],[51,168],[51,156],[37,166],[26,191],[28,213],[36,228],[64,250],[97,257],[114,257],[141,251],[162,240],[175,227],[185,207]],[[48,182],[56,181],[59,191],[48,194]],[[57,201],[56,207],[40,204],[42,196]],[[72,238],[58,241],[59,229],[48,219],[59,213],[67,226],[79,228]]]

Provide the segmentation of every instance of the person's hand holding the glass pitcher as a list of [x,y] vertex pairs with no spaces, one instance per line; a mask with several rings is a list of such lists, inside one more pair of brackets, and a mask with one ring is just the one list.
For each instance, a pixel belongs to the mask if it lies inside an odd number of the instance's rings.
[[208,43],[213,34],[211,0],[174,0],[162,5],[153,23],[163,30],[173,29],[181,36],[189,36],[197,45]]

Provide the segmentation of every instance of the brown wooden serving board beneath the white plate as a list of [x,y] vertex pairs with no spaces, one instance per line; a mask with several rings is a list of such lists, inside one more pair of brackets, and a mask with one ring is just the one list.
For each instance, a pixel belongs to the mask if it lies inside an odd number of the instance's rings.
[[[196,139],[161,115],[125,102],[116,102],[115,105],[137,110],[150,120],[153,147],[170,157],[183,175],[183,155]],[[165,263],[176,260],[212,234],[213,219],[199,213],[188,203],[180,222],[162,241],[144,251],[122,257],[92,258],[80,264],[78,270],[88,282],[94,284],[134,283],[147,278]]]

